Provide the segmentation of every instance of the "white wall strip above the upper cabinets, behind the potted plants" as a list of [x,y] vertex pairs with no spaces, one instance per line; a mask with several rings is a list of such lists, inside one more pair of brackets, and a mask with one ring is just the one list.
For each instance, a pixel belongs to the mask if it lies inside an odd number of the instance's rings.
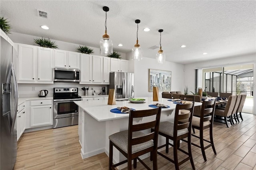
[[[30,36],[30,35],[26,35],[26,34],[20,34],[20,33],[16,33],[16,32],[12,32],[12,34],[9,34],[8,36],[14,43],[24,43],[24,44],[28,44],[28,45],[35,45],[34,39],[41,38],[41,37]],[[74,52],[77,52],[76,48],[79,45],[86,45],[86,44],[75,44],[75,43],[69,43],[69,42],[62,42],[62,41],[58,41],[58,40],[52,40],[52,41],[56,42],[56,44],[58,45],[58,49],[62,49],[62,50],[66,50],[66,51],[74,51]],[[99,40],[99,42],[100,42],[100,40]],[[100,46],[100,43],[99,43],[99,46]],[[94,49],[94,53],[93,53],[94,55],[100,55],[99,48],[96,48],[96,47],[90,47],[90,48]],[[126,59],[125,53],[120,53],[120,54],[121,54],[122,59]]]

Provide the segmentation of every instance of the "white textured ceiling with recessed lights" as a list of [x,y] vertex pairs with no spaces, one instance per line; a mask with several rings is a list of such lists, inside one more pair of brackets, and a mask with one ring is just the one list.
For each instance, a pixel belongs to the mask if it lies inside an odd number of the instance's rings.
[[[159,46],[159,29],[164,30],[162,49],[167,61],[192,63],[256,53],[254,0],[1,0],[0,16],[8,18],[12,32],[99,47],[103,6],[110,8],[107,29],[114,51],[131,51],[136,43],[134,21],[140,19],[138,40],[144,57],[155,57],[158,49],[149,48]],[[39,18],[37,9],[48,12],[48,19]],[[146,27],[150,32],[143,31]]]

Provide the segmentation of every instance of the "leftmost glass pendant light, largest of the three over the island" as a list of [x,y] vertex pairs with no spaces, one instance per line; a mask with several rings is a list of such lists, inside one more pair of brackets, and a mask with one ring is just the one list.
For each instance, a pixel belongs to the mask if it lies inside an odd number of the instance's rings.
[[100,54],[101,55],[111,55],[113,53],[113,43],[112,40],[109,39],[107,34],[107,12],[109,8],[107,6],[103,7],[103,10],[106,12],[106,20],[105,20],[105,34],[102,36],[100,40]]

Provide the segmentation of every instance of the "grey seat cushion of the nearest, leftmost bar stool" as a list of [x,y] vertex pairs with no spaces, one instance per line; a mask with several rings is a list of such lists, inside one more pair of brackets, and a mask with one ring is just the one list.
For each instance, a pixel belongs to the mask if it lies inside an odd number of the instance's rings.
[[[143,135],[144,135],[144,133],[140,132],[140,131],[132,133],[133,138],[143,136]],[[114,144],[116,144],[116,146],[121,148],[124,152],[128,153],[128,130],[124,130],[121,132],[117,132],[115,134],[111,134],[109,136],[109,140],[111,140]],[[136,145],[132,146],[132,153],[149,148],[151,146],[154,146],[153,140],[144,142],[142,144],[136,144]]]

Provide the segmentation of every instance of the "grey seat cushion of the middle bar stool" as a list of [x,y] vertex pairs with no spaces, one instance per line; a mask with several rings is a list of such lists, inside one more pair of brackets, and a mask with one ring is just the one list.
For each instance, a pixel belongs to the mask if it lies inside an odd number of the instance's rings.
[[[168,134],[169,136],[173,136],[173,130],[174,130],[173,127],[174,127],[174,123],[172,123],[172,122],[168,122],[168,121],[160,122],[159,132]],[[178,130],[177,136],[180,136],[185,133],[188,133],[188,128]]]

